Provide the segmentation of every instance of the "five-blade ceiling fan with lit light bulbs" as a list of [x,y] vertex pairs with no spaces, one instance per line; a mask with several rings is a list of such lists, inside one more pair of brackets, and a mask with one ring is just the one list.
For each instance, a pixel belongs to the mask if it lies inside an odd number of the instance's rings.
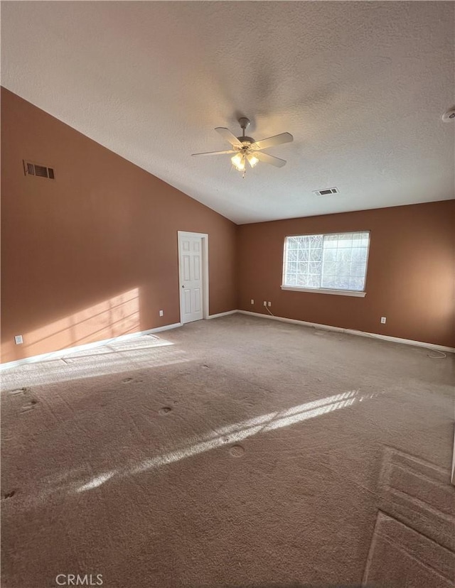
[[193,157],[235,153],[230,160],[235,169],[243,173],[244,178],[247,162],[252,168],[255,167],[258,161],[270,163],[277,168],[282,168],[283,165],[286,165],[284,159],[279,159],[270,156],[267,153],[262,153],[262,150],[281,145],[282,143],[291,143],[291,141],[294,141],[294,137],[290,133],[282,133],[273,137],[264,138],[261,141],[255,141],[254,138],[245,136],[245,131],[248,126],[250,126],[250,120],[242,117],[239,119],[239,123],[240,128],[242,129],[241,137],[234,136],[229,129],[225,129],[223,126],[218,126],[215,129],[215,131],[218,131],[218,133],[231,144],[232,149],[226,151],[210,151],[209,153],[193,153]]

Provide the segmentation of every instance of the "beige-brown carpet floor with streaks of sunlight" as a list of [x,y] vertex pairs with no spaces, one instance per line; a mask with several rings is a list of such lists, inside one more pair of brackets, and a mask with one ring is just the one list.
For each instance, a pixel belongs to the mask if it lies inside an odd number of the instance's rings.
[[428,354],[232,315],[4,372],[2,587],[451,586]]

